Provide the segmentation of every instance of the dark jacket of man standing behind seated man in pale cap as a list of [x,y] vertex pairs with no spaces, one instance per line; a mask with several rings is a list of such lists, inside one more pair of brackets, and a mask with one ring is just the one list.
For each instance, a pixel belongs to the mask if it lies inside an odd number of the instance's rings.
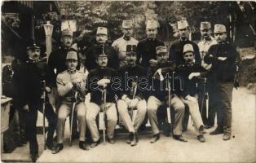
[[199,53],[199,48],[196,45],[195,42],[192,42],[188,39],[186,40],[179,40],[177,42],[174,42],[170,46],[170,60],[174,60],[174,62],[177,64],[184,64],[184,59],[183,59],[183,46],[185,44],[192,44],[193,49],[194,49],[194,54],[195,54],[195,63],[196,64],[201,64],[201,56]]

